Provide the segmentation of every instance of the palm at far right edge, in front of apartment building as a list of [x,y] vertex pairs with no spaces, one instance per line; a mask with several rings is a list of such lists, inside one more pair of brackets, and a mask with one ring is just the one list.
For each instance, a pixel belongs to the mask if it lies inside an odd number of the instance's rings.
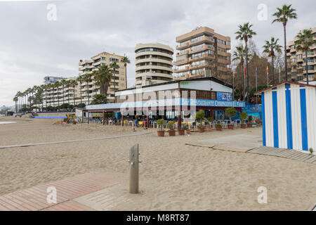
[[305,51],[305,63],[306,63],[306,82],[308,84],[308,51],[313,44],[316,44],[316,40],[313,39],[312,30],[303,30],[296,35],[296,49],[298,51]]

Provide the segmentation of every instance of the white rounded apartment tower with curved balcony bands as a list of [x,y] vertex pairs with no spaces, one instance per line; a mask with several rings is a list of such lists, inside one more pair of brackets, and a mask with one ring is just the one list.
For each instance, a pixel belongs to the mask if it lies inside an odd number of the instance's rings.
[[137,44],[136,86],[172,80],[173,49],[164,44]]

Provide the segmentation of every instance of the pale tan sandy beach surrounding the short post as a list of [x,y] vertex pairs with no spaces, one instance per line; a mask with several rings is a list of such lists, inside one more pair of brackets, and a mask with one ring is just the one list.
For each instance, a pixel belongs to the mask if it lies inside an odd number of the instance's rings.
[[[56,120],[0,118],[0,146],[134,134],[131,127],[53,125]],[[138,129],[138,132],[143,129]],[[260,135],[260,128],[190,136],[120,139],[0,149],[0,195],[86,172],[111,174],[113,194],[131,199],[112,210],[311,210],[316,165],[265,155],[185,145],[206,137]],[[136,132],[137,133],[137,132]],[[262,140],[258,140],[262,141]],[[140,194],[129,195],[129,148],[140,145]],[[260,186],[268,203],[257,202]]]

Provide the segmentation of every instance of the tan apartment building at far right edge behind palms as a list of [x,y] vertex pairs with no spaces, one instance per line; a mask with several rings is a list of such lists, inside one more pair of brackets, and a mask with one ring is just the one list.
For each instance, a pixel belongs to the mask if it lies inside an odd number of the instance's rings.
[[[316,39],[316,27],[310,29]],[[305,52],[297,51],[296,38],[289,41],[287,46],[287,71],[292,80],[298,82],[306,81],[306,56]],[[308,51],[308,79],[311,81],[316,77],[316,44],[310,46]]]

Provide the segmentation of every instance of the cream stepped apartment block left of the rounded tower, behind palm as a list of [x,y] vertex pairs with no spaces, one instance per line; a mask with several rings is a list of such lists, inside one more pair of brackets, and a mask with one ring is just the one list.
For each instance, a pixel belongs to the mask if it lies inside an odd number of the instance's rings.
[[[107,100],[109,102],[114,102],[114,90],[118,91],[121,89],[126,89],[126,72],[124,63],[121,63],[121,58],[123,57],[124,56],[103,52],[91,57],[91,59],[80,60],[79,75],[91,74],[93,70],[98,70],[101,65],[110,66],[111,63],[116,62],[119,65],[119,69],[116,71],[116,75],[113,77],[114,79],[112,79],[110,87],[107,91]],[[100,87],[96,85],[96,82],[93,79],[91,79],[91,82],[82,83],[81,89],[83,92],[82,98],[86,104],[88,103],[88,94],[90,99],[91,96],[93,97],[95,94],[100,94]]]

